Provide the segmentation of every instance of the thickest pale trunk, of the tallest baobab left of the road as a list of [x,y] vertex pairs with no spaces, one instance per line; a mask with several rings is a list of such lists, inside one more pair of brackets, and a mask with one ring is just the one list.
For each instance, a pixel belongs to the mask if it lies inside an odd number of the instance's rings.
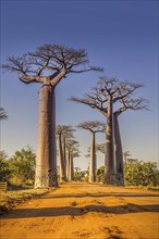
[[39,90],[35,188],[58,184],[56,151],[54,88],[42,86]]

